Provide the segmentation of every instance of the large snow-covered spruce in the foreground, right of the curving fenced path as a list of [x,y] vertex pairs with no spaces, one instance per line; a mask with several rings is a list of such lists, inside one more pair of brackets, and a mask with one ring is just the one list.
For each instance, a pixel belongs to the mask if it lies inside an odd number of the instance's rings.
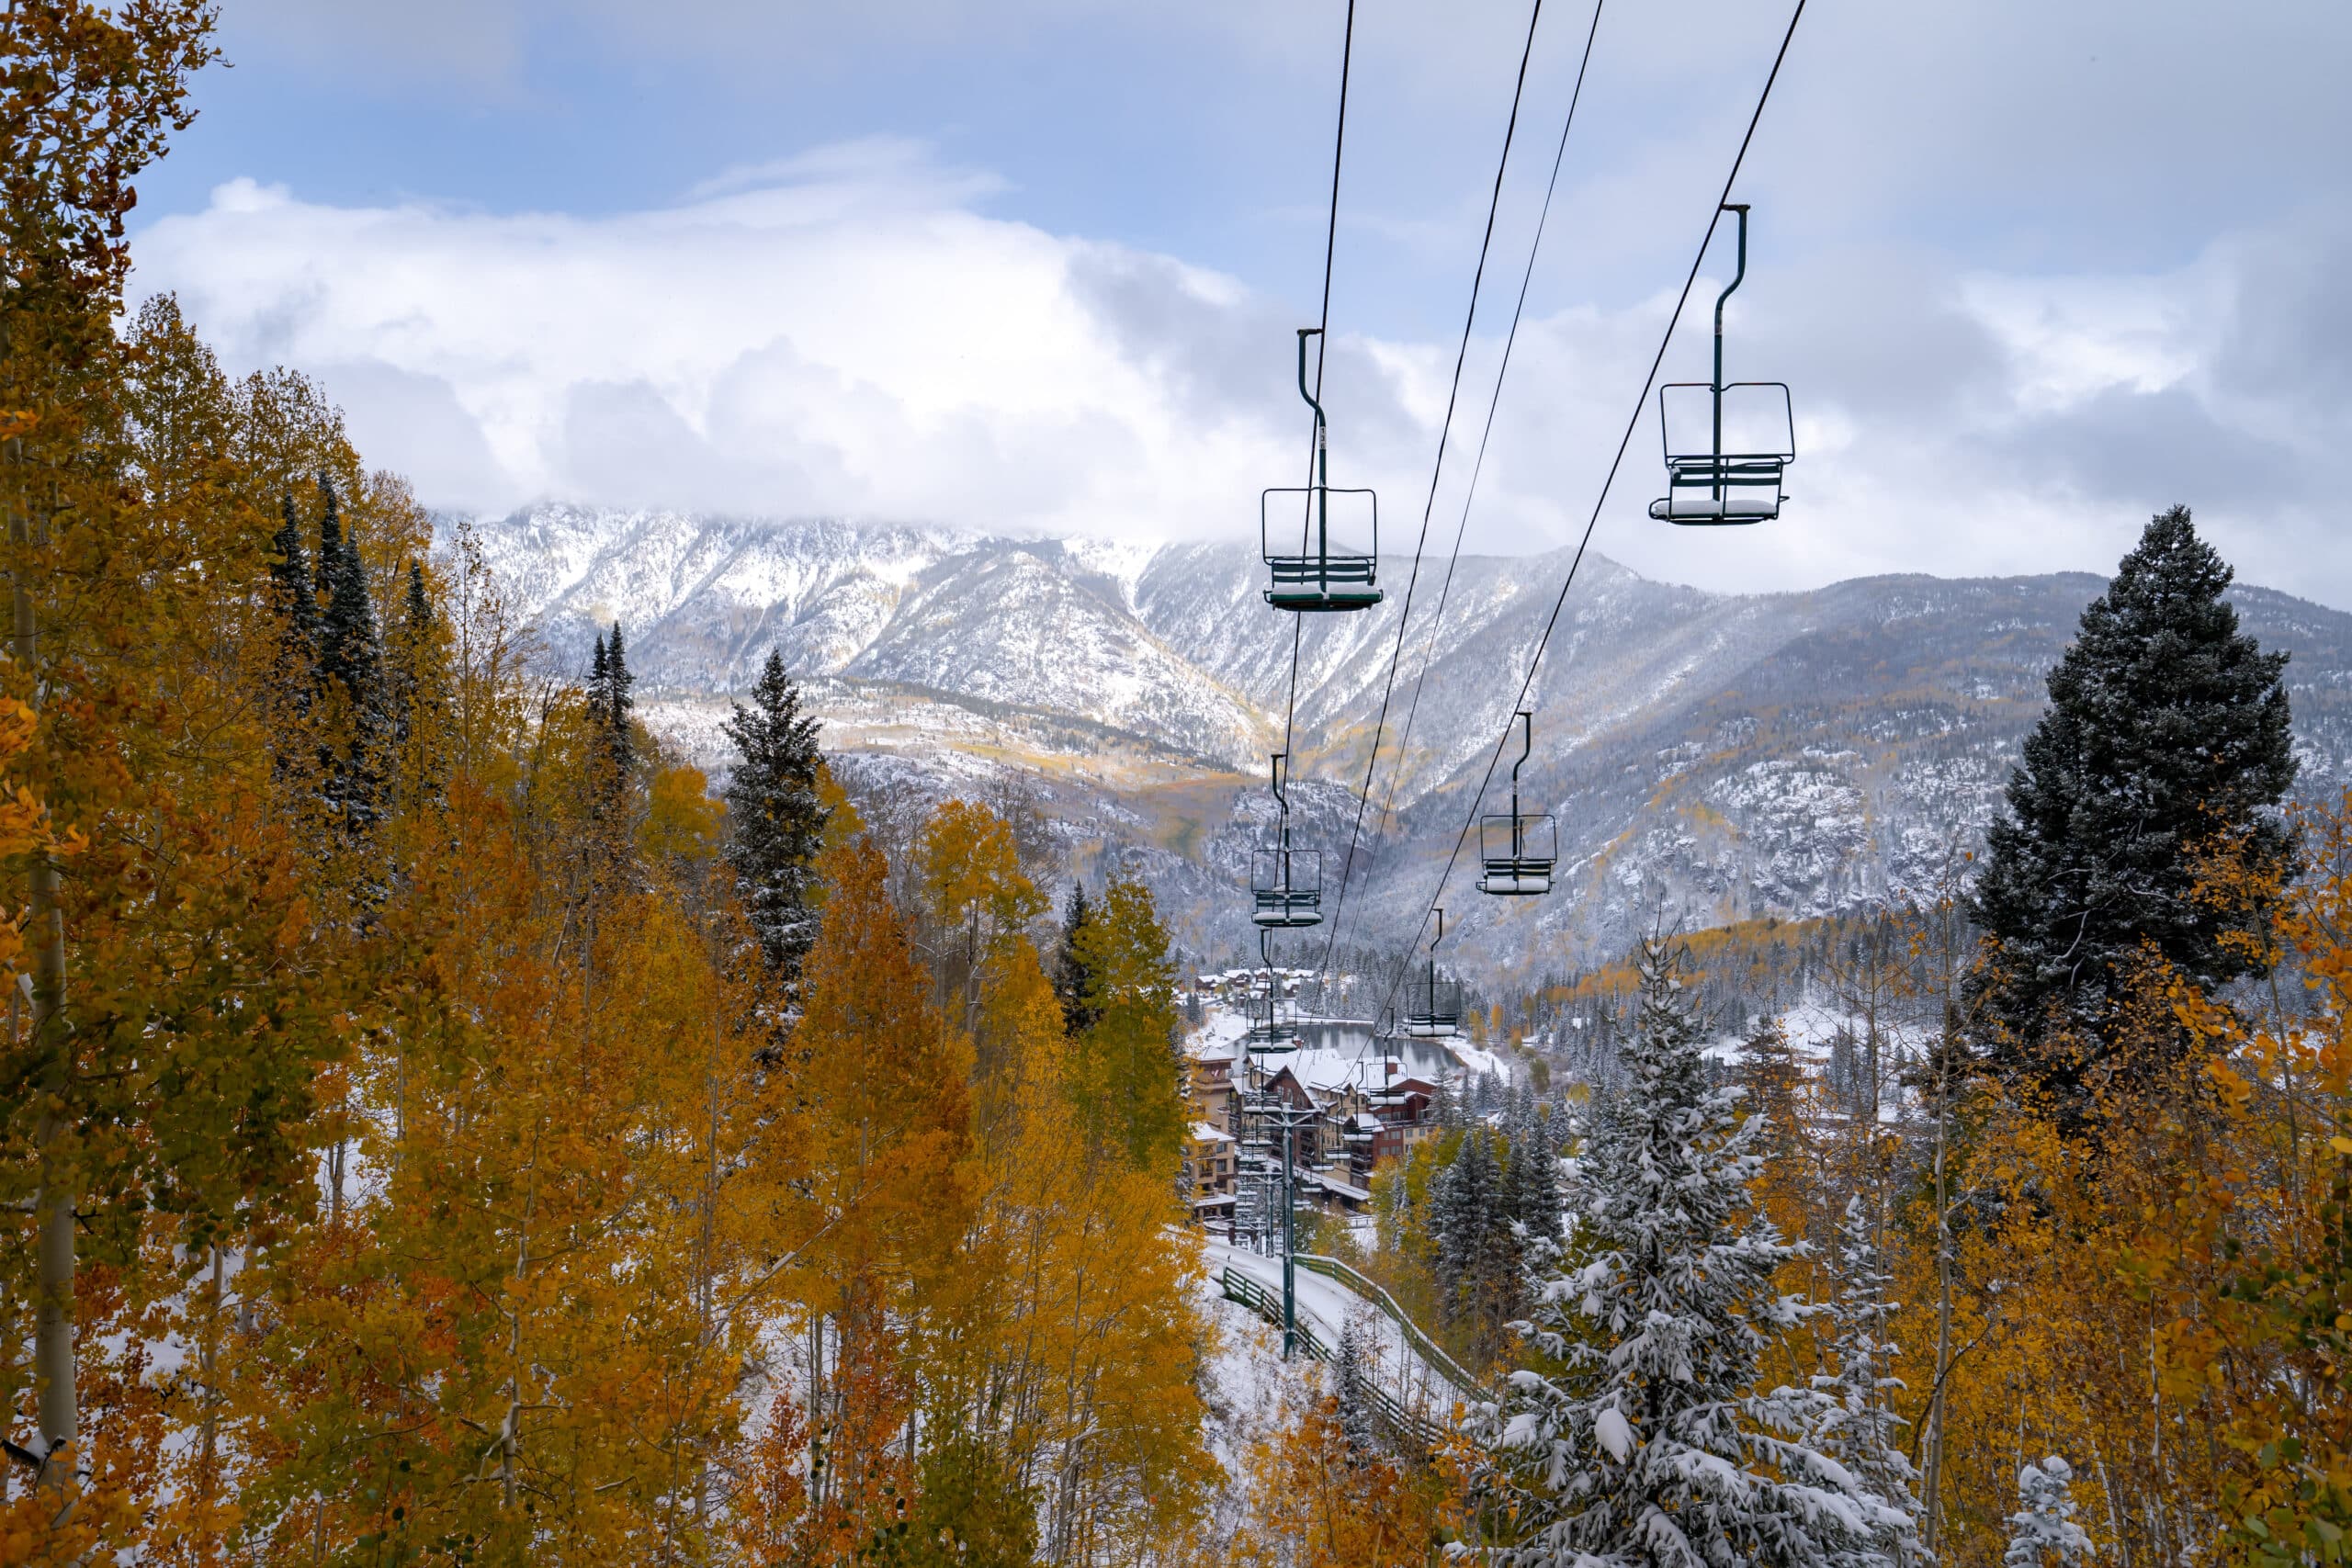
[[1811,1307],[1773,1288],[1799,1248],[1755,1213],[1757,1124],[1708,1081],[1682,966],[1642,945],[1623,1081],[1571,1166],[1571,1251],[1522,1326],[1562,1375],[1517,1371],[1479,1413],[1512,1568],[1818,1568],[1903,1521],[1806,1441],[1811,1389],[1752,1392]]

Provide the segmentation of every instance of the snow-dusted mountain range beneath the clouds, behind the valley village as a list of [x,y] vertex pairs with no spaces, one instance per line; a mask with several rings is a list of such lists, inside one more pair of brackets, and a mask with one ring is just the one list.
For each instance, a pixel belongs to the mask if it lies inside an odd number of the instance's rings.
[[[1343,940],[1409,938],[1442,875],[1446,945],[1503,964],[1613,952],[1661,910],[1708,924],[1926,891],[1980,837],[2100,590],[2058,574],[1710,595],[1588,555],[1562,604],[1566,552],[1463,557],[1451,578],[1439,559],[1388,693],[1411,576],[1395,559],[1383,607],[1296,628],[1294,696],[1294,618],[1258,599],[1242,545],[560,505],[473,527],[557,658],[586,668],[595,628],[623,625],[649,722],[691,755],[724,766],[717,722],[779,649],[844,778],[922,795],[1018,778],[1077,870],[1138,870],[1209,954],[1256,947],[1240,889],[1284,733],[1294,837],[1324,849],[1338,903],[1383,696]],[[2293,654],[2303,790],[2343,788],[2352,616],[2234,597]],[[1472,818],[1505,809],[1503,736],[1555,604],[1519,792],[1557,816],[1559,889],[1479,898]]]

